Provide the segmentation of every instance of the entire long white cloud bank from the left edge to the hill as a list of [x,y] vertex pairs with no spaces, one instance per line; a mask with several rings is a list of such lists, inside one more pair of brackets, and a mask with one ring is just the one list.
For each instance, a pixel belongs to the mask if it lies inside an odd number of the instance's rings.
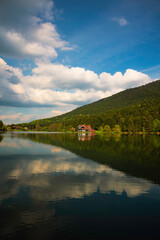
[[32,75],[24,76],[19,68],[9,66],[3,59],[0,79],[1,105],[61,107],[83,105],[151,81],[148,75],[132,69],[124,74],[98,75],[80,67],[44,62],[37,63]]

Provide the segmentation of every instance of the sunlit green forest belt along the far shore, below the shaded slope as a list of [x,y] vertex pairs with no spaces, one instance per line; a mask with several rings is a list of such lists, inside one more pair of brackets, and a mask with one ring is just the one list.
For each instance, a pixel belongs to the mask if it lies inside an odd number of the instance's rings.
[[79,124],[90,124],[93,129],[103,131],[106,125],[111,130],[115,125],[119,125],[122,132],[160,132],[159,119],[160,101],[145,100],[141,104],[110,110],[107,113],[79,114],[62,119],[41,119],[20,124],[17,127],[37,131],[76,131]]

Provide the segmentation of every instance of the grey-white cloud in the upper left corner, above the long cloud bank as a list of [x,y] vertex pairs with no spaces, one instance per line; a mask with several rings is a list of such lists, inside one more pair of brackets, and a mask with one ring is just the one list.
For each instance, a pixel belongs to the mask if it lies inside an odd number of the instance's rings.
[[0,8],[1,54],[32,59],[56,58],[56,49],[72,50],[51,22],[53,15],[51,0],[3,1]]

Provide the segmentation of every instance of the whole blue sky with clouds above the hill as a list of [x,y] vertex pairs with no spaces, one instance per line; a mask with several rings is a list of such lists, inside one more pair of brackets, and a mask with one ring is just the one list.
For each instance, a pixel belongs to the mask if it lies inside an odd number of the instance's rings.
[[53,117],[160,79],[160,0],[0,0],[0,119]]

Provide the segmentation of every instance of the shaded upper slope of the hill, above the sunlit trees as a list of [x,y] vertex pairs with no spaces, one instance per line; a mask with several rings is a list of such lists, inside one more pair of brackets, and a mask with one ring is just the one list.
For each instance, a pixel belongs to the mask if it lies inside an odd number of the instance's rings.
[[79,107],[67,114],[63,114],[62,116],[97,114],[107,112],[108,110],[128,107],[129,105],[134,105],[144,100],[149,101],[157,98],[160,98],[160,80],[141,87],[127,89],[111,97],[103,98],[97,102]]

